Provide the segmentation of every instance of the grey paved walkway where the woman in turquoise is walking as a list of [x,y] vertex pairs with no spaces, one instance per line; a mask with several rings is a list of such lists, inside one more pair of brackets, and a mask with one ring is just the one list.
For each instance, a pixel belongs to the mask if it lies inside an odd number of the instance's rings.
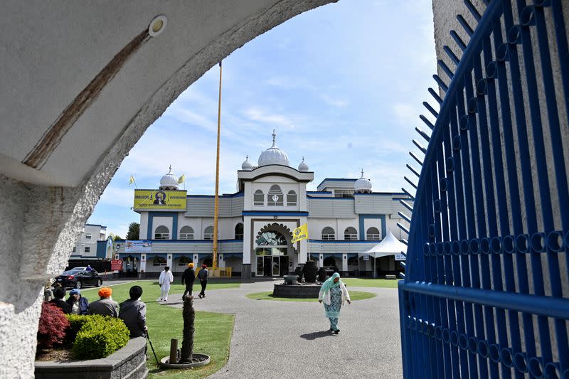
[[[397,289],[351,287],[377,296],[343,306],[336,336],[317,302],[245,297],[273,283],[206,291],[194,301],[198,311],[236,315],[228,364],[210,378],[402,378]],[[170,298],[181,307],[180,294]]]

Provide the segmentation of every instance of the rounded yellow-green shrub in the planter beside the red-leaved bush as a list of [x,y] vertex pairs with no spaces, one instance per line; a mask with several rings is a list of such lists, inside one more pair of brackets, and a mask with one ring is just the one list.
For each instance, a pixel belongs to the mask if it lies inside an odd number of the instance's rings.
[[108,316],[84,317],[88,321],[74,320],[76,325],[83,322],[73,343],[75,358],[105,358],[128,343],[130,332],[121,319]]

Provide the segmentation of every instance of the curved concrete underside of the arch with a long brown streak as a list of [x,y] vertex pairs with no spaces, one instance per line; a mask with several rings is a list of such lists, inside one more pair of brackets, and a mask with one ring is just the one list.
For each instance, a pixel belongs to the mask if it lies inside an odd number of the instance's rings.
[[[166,107],[220,59],[333,1],[4,4],[1,174],[74,187],[102,164],[116,167]],[[159,15],[166,25],[151,37],[149,24]]]

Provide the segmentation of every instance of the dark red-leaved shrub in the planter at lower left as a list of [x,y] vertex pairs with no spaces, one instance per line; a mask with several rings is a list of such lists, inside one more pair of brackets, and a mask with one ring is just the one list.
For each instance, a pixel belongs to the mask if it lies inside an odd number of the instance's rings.
[[68,327],[69,320],[63,311],[55,304],[44,301],[38,326],[38,350],[61,345]]

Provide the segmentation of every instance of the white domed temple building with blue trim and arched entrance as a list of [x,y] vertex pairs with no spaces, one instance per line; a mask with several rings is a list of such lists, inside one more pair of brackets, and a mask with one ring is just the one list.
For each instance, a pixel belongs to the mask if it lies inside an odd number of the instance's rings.
[[[344,275],[396,274],[395,256],[373,262],[358,258],[377,245],[388,230],[401,238],[397,223],[405,193],[373,192],[365,178],[326,178],[317,191],[302,159],[289,165],[276,146],[263,151],[258,165],[246,159],[237,172],[238,192],[219,196],[218,267],[232,267],[241,277],[275,277],[314,260],[319,267],[337,267]],[[159,192],[178,191],[171,171],[161,178]],[[144,190],[146,191],[146,190]],[[178,192],[169,192],[170,194]],[[185,191],[179,191],[185,194]],[[179,194],[178,193],[178,194]],[[171,196],[171,195],[170,195]],[[212,263],[214,196],[187,195],[184,210],[134,210],[140,214],[139,241],[115,241],[115,254],[134,261],[139,270],[159,272],[164,266],[183,272],[188,262]],[[291,243],[292,230],[307,223],[309,239]],[[137,250],[133,245],[144,245]],[[130,247],[130,248],[129,248]]]

